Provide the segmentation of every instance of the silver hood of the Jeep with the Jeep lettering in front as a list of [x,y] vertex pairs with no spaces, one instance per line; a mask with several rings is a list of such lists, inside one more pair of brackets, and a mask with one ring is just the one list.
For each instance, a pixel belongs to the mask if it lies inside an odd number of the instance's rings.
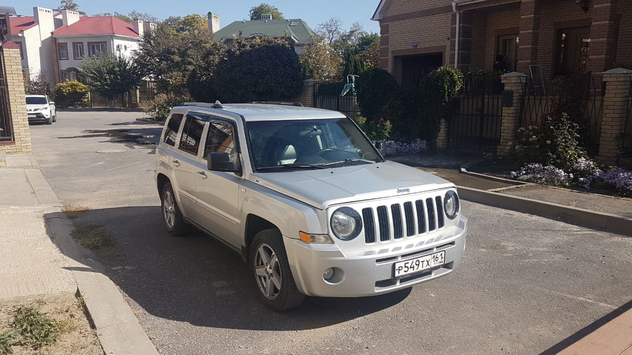
[[391,161],[334,169],[256,173],[250,180],[322,210],[339,203],[454,187],[439,176]]

